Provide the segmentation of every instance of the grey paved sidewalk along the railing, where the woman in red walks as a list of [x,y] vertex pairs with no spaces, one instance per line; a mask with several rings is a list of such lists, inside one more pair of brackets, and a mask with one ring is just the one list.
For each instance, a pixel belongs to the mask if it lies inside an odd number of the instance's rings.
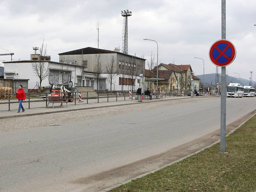
[[[25,108],[24,112],[17,113],[17,109],[13,109],[10,111],[0,111],[0,119],[5,118],[13,118],[13,117],[22,117],[22,116],[34,116],[34,115],[43,115],[43,114],[51,114],[51,113],[60,113],[60,112],[67,112],[67,111],[76,111],[76,110],[84,110],[84,109],[92,109],[92,108],[105,108],[105,107],[113,107],[113,106],[122,106],[122,105],[131,105],[131,104],[140,104],[145,102],[156,102],[156,101],[163,101],[163,100],[177,100],[177,99],[188,99],[193,97],[163,97],[159,99],[153,100],[143,100],[142,102],[138,102],[138,100],[122,100],[122,101],[109,101],[109,102],[100,102],[100,103],[88,103],[83,105],[70,105],[68,103],[68,107],[66,104],[63,103],[62,107],[55,107],[55,108]],[[198,97],[194,97],[195,99]],[[200,97],[201,98],[201,97]],[[55,104],[56,106],[57,104]],[[50,105],[49,105],[50,106]],[[17,106],[18,107],[18,106]]]

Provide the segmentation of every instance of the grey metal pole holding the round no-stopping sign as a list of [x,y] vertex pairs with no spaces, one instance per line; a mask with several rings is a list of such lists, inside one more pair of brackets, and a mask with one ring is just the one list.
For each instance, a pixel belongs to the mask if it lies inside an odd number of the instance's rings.
[[[221,39],[226,39],[226,0],[221,0]],[[220,152],[226,152],[226,67],[221,67]]]

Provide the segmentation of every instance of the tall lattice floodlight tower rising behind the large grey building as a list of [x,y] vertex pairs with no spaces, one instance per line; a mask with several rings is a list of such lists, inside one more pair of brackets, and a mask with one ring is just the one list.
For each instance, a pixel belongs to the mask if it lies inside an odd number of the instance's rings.
[[123,22],[123,42],[122,42],[122,52],[128,54],[128,20],[127,17],[132,16],[132,12],[128,9],[125,11],[121,11],[122,16],[124,17]]

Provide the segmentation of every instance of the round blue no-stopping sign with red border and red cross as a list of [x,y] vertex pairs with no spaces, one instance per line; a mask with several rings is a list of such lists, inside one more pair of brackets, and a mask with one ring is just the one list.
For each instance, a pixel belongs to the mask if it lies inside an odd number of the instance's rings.
[[230,41],[221,39],[212,44],[209,57],[214,65],[226,67],[235,59],[236,48]]

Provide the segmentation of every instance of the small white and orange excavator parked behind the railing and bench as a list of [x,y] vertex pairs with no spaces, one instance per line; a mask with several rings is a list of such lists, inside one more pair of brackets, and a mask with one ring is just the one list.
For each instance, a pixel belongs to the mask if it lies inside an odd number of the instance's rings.
[[52,96],[62,96],[63,101],[73,102],[73,93],[68,90],[68,84],[58,84],[52,86]]

